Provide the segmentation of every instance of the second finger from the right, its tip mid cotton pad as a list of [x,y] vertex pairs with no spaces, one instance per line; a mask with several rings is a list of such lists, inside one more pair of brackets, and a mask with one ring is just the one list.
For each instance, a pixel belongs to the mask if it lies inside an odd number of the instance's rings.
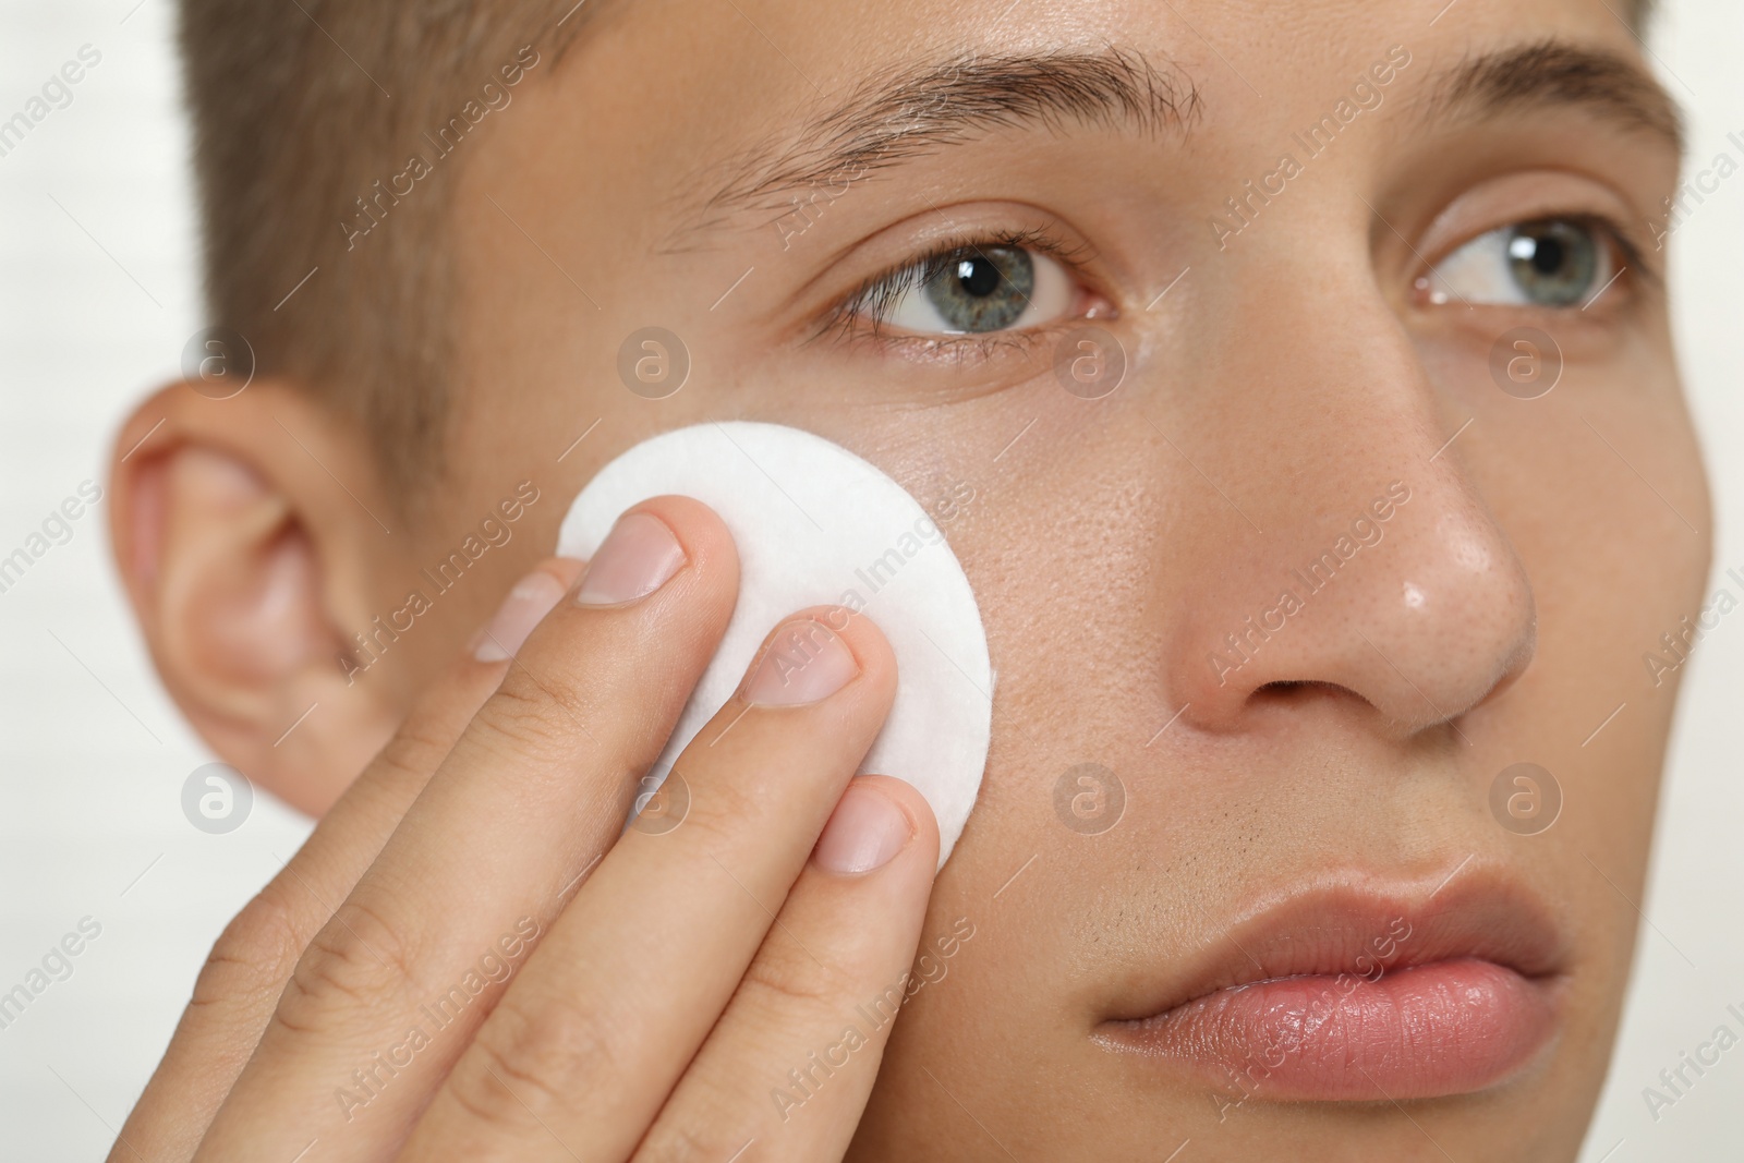
[[[839,633],[832,633],[841,626]],[[623,1160],[738,989],[895,696],[841,607],[783,622],[443,1081],[406,1158]]]

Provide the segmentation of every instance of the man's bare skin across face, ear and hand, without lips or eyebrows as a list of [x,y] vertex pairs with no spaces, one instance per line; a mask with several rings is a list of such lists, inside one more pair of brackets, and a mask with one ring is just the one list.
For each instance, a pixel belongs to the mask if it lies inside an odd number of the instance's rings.
[[[290,1160],[310,1140],[310,1160],[1165,1158],[1189,1137],[1200,1160],[1573,1158],[1678,678],[1655,685],[1641,656],[1697,610],[1709,561],[1648,225],[1676,152],[1594,103],[1428,101],[1461,59],[1547,37],[1639,63],[1599,0],[1437,7],[602,9],[516,91],[457,195],[462,391],[436,516],[392,520],[364,434],[295,385],[146,401],[117,450],[166,422],[117,466],[112,513],[153,657],[227,762],[323,820],[220,942],[113,1158]],[[1411,63],[1383,99],[1219,237],[1226,199],[1392,45]],[[977,127],[821,202],[806,187],[703,213],[771,169],[755,159],[813,157],[800,127],[869,84],[1062,47],[1142,54],[1198,110]],[[811,213],[783,218],[795,194]],[[1486,232],[1554,216],[1615,220],[1639,260],[1554,307],[1453,274]],[[1062,244],[1069,291],[1008,342],[825,326],[940,235],[1020,232]],[[1446,302],[1418,286],[1427,267]],[[1085,323],[1127,356],[1100,399],[1053,371]],[[649,324],[692,361],[661,401],[617,378]],[[1491,377],[1519,326],[1561,347],[1538,399]],[[846,622],[858,673],[839,692],[746,711],[694,757],[682,826],[616,840],[623,772],[657,753],[732,602],[731,539],[694,502],[647,502],[685,554],[659,589],[553,595],[514,663],[469,652],[528,570],[572,586],[582,563],[542,558],[595,469],[729,417],[816,431],[923,504],[973,488],[945,530],[999,671],[994,743],[937,882],[903,772],[865,788],[907,821],[888,863],[807,858],[900,682],[870,617]],[[514,537],[347,677],[351,635],[523,479],[541,500]],[[1393,481],[1409,500],[1385,537],[1249,661],[1212,664]],[[1531,837],[1488,806],[1521,760],[1564,795]],[[1053,804],[1083,762],[1127,788],[1095,835]],[[1230,1088],[1099,1037],[1296,886],[1421,900],[1449,875],[1519,886],[1563,926],[1556,1036],[1495,1085],[1231,1109]],[[347,1118],[335,1088],[520,917],[539,936],[513,976]],[[783,1114],[788,1067],[964,917],[947,973]]]

